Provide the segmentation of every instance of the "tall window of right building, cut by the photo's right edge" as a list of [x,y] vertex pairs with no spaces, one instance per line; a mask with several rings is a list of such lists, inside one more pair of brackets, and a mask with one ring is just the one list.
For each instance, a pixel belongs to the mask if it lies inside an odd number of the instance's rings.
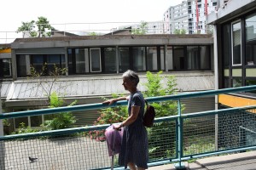
[[249,15],[246,26],[246,65],[256,65],[256,14]]

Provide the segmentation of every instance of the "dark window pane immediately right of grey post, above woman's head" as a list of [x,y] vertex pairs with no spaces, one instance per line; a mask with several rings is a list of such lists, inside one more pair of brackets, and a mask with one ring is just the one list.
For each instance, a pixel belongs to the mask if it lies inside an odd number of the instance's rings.
[[119,48],[119,72],[130,68],[129,48]]

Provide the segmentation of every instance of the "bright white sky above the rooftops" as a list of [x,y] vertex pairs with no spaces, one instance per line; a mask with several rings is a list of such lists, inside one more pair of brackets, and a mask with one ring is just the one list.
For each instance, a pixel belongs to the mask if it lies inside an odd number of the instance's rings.
[[[57,30],[109,30],[117,26],[129,25],[125,22],[159,21],[170,6],[183,0],[8,0],[1,3],[0,38],[10,37],[21,22],[38,20],[44,16]],[[67,3],[68,2],[68,3]],[[3,7],[4,6],[4,7]],[[106,22],[123,22],[111,23]],[[73,24],[71,24],[73,23]],[[74,24],[90,23],[90,24]],[[91,24],[105,23],[105,24]],[[3,33],[5,32],[5,33]],[[2,39],[3,40],[3,39]],[[1,39],[0,39],[1,43]]]

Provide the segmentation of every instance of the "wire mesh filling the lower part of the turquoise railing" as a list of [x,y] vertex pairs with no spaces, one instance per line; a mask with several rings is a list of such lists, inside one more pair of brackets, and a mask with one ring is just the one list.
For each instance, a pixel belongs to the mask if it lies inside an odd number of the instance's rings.
[[[256,144],[256,107],[219,110],[181,116],[183,155],[198,156]],[[148,128],[148,162],[177,159],[177,116],[156,119]],[[107,142],[100,127],[77,127],[0,139],[0,169],[102,169],[109,168]],[[92,133],[93,132],[93,133]],[[93,136],[97,134],[97,138]],[[31,157],[37,158],[30,160]],[[4,162],[3,162],[4,160]],[[114,165],[118,167],[118,155]]]

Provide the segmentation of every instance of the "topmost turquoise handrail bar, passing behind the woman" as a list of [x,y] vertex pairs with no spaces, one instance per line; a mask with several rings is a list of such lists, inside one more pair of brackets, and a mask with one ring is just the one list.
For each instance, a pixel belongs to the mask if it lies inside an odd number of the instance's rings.
[[[150,97],[146,99],[148,100],[149,103],[152,103],[152,102],[161,102],[161,101],[167,101],[167,100],[195,98],[195,97],[201,97],[201,96],[207,96],[207,95],[228,94],[228,93],[252,91],[252,90],[256,90],[256,85],[247,86],[247,87],[224,88],[224,89],[218,89],[218,90],[193,92],[189,94],[175,94],[175,95],[168,95],[168,96]],[[60,113],[60,112],[67,112],[67,111],[88,111],[88,110],[103,109],[103,108],[115,107],[115,106],[121,106],[121,105],[127,105],[127,101],[118,101],[113,105],[98,103],[98,104],[88,104],[88,105],[73,105],[73,106],[65,106],[65,107],[57,107],[57,108],[50,108],[50,109],[33,110],[33,111],[9,112],[9,113],[3,113],[2,115],[0,115],[0,119],[15,118],[15,117],[21,117],[21,116],[38,116],[38,115],[53,114],[53,113]]]

